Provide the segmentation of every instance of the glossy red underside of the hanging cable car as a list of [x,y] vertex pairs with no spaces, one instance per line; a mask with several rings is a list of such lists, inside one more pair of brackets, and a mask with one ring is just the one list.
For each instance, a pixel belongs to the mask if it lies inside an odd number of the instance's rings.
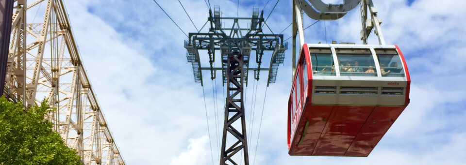
[[368,156],[405,107],[307,106],[289,154]]

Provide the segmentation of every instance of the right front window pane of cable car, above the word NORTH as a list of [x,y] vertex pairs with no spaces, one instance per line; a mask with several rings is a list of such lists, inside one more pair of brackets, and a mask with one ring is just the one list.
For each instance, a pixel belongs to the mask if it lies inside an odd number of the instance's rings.
[[404,77],[401,59],[395,49],[375,49],[380,64],[380,72],[386,77]]

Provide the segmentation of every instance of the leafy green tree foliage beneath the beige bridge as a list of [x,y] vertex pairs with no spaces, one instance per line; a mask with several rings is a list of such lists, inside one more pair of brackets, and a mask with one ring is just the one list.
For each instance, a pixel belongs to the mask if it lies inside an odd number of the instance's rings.
[[31,106],[0,97],[0,165],[80,165],[80,157],[44,120],[49,106]]

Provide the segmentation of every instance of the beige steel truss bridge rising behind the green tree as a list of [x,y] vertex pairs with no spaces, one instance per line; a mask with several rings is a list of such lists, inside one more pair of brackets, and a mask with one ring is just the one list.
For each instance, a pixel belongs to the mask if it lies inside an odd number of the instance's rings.
[[[84,69],[64,0],[0,5],[3,95],[26,108],[48,99],[55,110],[45,119],[84,165],[125,165]],[[33,22],[26,17],[30,11],[44,17]]]

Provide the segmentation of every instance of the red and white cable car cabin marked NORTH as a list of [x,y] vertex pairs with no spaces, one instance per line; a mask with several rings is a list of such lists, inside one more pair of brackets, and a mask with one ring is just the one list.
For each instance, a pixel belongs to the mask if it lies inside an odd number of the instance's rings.
[[368,156],[409,104],[399,47],[302,47],[288,102],[288,153]]

